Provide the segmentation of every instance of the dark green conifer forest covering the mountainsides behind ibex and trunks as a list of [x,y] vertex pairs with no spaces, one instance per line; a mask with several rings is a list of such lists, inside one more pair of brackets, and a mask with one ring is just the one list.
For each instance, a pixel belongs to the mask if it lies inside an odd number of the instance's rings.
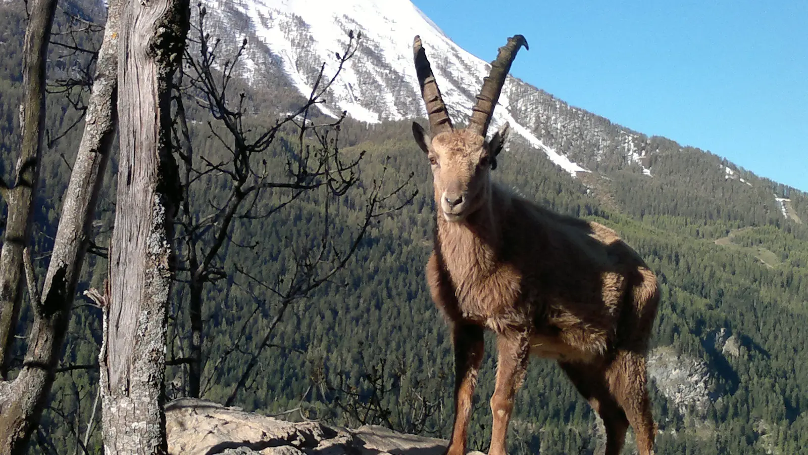
[[[65,10],[93,14],[71,7],[77,9]],[[26,21],[19,7],[0,9],[0,174],[10,181],[19,153]],[[57,12],[56,27],[67,28],[67,17]],[[85,33],[76,44],[97,49],[99,43],[98,34]],[[81,56],[57,58],[65,49],[51,50],[48,82],[54,87],[72,74],[65,62],[82,61]],[[249,158],[266,175],[287,175],[289,163],[320,147],[338,150],[350,164],[344,178],[351,185],[344,191],[272,187],[250,193],[255,197],[246,196],[229,228],[220,232],[224,218],[217,210],[228,206],[238,185],[238,176],[224,165],[232,142],[221,111],[197,102],[204,89],[198,73],[191,66],[184,71],[177,97],[187,111],[187,136],[178,125],[174,155],[181,177],[183,166],[190,166],[189,150],[196,169],[207,165],[207,170],[188,171],[180,179],[166,398],[187,396],[197,381],[194,394],[200,398],[246,410],[448,437],[451,341],[423,276],[435,216],[431,174],[411,137],[410,121],[368,125],[346,118],[322,141],[317,140],[322,136],[304,138],[295,122],[275,130],[271,142]],[[306,103],[283,83],[266,90],[238,79],[231,84],[234,93],[245,93],[239,121],[250,140]],[[39,277],[53,249],[81,138],[86,92],[71,90],[54,89],[47,96],[48,147],[32,246]],[[310,112],[311,121],[334,122],[318,116],[316,108]],[[74,122],[79,128],[70,130]],[[66,133],[58,137],[61,132]],[[552,210],[615,229],[659,277],[662,304],[650,353],[652,376],[662,378],[650,381],[658,454],[806,453],[808,225],[802,220],[808,222],[808,195],[745,170],[744,182],[727,178],[726,160],[716,155],[666,138],[644,139],[658,150],[649,164],[652,177],[636,166],[604,162],[591,164],[591,175],[573,178],[514,140],[499,156],[494,179]],[[117,165],[113,154],[61,362],[28,453],[103,451],[99,419],[91,417],[99,388],[102,312],[83,292],[103,288],[107,278]],[[388,194],[391,198],[379,202]],[[772,194],[790,199],[791,216],[784,217]],[[374,201],[377,211],[368,216]],[[0,207],[5,220],[6,206]],[[312,259],[321,245],[326,253]],[[340,255],[350,257],[331,274],[328,267],[339,264]],[[192,273],[200,264],[207,264],[204,279]],[[291,283],[305,273],[307,283],[317,286],[304,292]],[[194,309],[195,301],[200,308]],[[195,317],[200,322],[196,341]],[[11,377],[27,348],[31,319],[25,297]],[[490,437],[492,341],[486,338],[470,429],[469,448],[483,451]],[[192,380],[195,347],[202,362]],[[684,380],[676,380],[675,372],[681,371]],[[78,443],[85,433],[86,447]],[[597,453],[601,438],[594,413],[562,371],[534,359],[516,398],[511,453]],[[627,438],[624,453],[633,453],[632,439]]]

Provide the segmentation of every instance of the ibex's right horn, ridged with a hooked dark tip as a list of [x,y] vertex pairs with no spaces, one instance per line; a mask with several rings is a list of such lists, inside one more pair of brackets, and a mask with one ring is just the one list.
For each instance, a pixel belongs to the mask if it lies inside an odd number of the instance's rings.
[[488,124],[491,121],[491,114],[494,113],[494,106],[497,105],[499,93],[502,92],[507,73],[511,70],[511,63],[521,46],[524,46],[524,49],[530,49],[524,36],[515,35],[508,38],[507,45],[499,48],[497,59],[491,62],[490,74],[483,79],[482,90],[477,96],[477,105],[474,106],[469,120],[469,129],[483,137],[488,132]]

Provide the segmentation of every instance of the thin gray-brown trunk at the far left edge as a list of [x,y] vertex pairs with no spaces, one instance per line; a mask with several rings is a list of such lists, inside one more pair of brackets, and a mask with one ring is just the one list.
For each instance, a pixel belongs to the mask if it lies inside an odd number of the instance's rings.
[[31,0],[31,15],[23,44],[23,141],[8,203],[6,236],[0,252],[0,380],[6,379],[11,344],[22,300],[23,249],[31,241],[36,185],[40,178],[45,128],[45,67],[57,0]]

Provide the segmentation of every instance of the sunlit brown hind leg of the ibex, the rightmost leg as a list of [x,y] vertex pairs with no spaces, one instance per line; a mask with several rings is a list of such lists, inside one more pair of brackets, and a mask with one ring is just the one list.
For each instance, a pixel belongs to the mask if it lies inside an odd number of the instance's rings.
[[646,357],[634,351],[618,351],[607,369],[608,387],[625,412],[634,435],[639,455],[654,455],[656,425],[651,415],[646,387]]

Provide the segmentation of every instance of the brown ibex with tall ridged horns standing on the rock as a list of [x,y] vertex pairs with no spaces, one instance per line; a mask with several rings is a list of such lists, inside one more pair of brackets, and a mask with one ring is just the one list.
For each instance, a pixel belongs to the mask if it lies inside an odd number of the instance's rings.
[[620,453],[629,424],[641,455],[654,450],[646,390],[646,350],[659,287],[646,264],[611,229],[546,210],[490,179],[507,138],[490,139],[491,114],[516,53],[513,36],[499,49],[469,125],[455,129],[431,66],[415,36],[415,69],[430,134],[412,125],[429,158],[436,236],[427,262],[432,300],[452,330],[455,416],[448,455],[465,455],[483,330],[497,338],[496,388],[489,455],[505,455],[516,390],[529,355],[558,360],[603,419],[607,455]]

